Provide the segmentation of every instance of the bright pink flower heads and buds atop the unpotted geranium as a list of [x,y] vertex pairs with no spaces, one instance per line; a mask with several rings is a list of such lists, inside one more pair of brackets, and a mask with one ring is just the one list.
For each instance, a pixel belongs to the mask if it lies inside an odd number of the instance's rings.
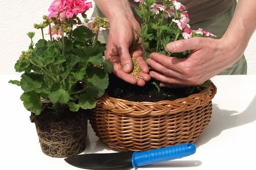
[[[71,38],[72,31],[79,26],[86,26],[95,36],[98,36],[99,31],[105,31],[109,28],[109,21],[107,18],[96,17],[89,20],[86,18],[85,12],[92,7],[91,2],[86,0],[54,0],[50,5],[48,16],[44,16],[42,24],[35,24],[34,27],[41,28],[42,33],[46,33],[47,39],[58,40],[61,37]],[[81,21],[78,14],[82,14],[84,21]],[[95,22],[96,20],[96,22]],[[51,23],[54,23],[53,25]],[[69,35],[66,33],[70,32]],[[44,38],[44,35],[43,38]]]

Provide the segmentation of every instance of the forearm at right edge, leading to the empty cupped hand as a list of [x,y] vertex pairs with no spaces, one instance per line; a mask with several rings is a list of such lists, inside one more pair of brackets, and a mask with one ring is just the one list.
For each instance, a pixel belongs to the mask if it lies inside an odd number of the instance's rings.
[[256,28],[256,1],[238,0],[234,16],[223,36],[232,48],[245,50]]

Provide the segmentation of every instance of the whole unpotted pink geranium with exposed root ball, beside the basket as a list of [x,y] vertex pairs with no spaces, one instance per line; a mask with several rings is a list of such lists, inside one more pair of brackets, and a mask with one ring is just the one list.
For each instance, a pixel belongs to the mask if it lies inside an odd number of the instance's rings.
[[9,81],[24,91],[20,99],[32,113],[30,120],[48,156],[69,157],[85,149],[87,112],[104,94],[113,71],[102,57],[106,44],[98,41],[99,31],[109,28],[109,21],[87,19],[85,12],[91,7],[86,0],[54,0],[50,14],[34,24],[43,38],[34,44],[35,33],[27,33],[29,49],[14,66],[23,72],[21,79]]

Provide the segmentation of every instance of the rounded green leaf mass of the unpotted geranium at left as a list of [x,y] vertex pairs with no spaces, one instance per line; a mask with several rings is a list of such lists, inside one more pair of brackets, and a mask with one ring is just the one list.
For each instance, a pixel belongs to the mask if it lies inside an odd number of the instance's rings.
[[[28,35],[33,37],[32,33]],[[48,102],[57,112],[92,109],[108,87],[113,65],[102,57],[106,44],[95,40],[95,33],[85,26],[73,30],[70,38],[62,38],[31,43],[14,66],[23,74],[20,81],[9,82],[21,86],[24,107],[36,115]]]

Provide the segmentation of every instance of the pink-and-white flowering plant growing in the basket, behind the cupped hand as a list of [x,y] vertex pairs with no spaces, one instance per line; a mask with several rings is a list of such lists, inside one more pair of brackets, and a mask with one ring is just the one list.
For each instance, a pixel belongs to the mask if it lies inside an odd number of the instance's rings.
[[184,58],[189,51],[172,54],[165,49],[165,45],[180,39],[215,36],[201,28],[192,30],[186,7],[176,0],[162,0],[161,4],[157,4],[156,0],[134,1],[140,3],[140,10],[135,11],[143,19],[138,38],[143,39],[145,59],[151,52]]

